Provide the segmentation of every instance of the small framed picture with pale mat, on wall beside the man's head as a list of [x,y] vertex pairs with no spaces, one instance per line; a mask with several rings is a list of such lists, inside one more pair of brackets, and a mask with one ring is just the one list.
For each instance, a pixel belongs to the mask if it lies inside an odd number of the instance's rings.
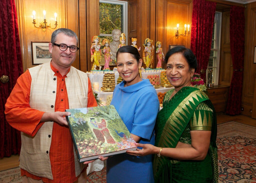
[[32,64],[37,65],[51,60],[49,42],[31,41]]

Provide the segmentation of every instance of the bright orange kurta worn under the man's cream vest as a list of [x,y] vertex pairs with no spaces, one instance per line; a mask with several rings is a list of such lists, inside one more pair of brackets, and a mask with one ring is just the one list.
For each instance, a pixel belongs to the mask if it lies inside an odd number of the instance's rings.
[[[65,77],[61,76],[59,71],[51,65],[51,69],[57,76],[57,90],[55,100],[55,111],[64,111],[68,107],[68,97],[65,87]],[[43,122],[40,119],[43,111],[39,111],[29,106],[31,76],[26,70],[18,79],[11,94],[5,104],[6,119],[9,124],[28,134],[34,136]],[[88,79],[88,86],[90,80]],[[88,87],[87,107],[97,106],[91,87]],[[73,142],[67,126],[61,126],[53,123],[51,145],[49,151],[51,171],[53,180],[38,177],[21,169],[21,175],[26,175],[33,179],[42,179],[43,182],[73,182],[75,177]]]

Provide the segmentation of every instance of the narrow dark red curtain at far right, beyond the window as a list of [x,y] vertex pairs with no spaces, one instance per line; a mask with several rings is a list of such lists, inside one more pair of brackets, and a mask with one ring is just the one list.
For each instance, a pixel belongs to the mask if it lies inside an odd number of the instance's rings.
[[226,113],[241,113],[243,60],[244,60],[244,7],[231,6],[230,9],[230,50],[233,75],[228,92]]

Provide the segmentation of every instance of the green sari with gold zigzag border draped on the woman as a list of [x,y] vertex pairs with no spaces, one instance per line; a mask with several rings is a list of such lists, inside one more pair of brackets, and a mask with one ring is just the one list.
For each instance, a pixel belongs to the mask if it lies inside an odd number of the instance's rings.
[[[216,115],[208,96],[195,87],[181,88],[170,100],[172,90],[163,100],[155,126],[155,145],[175,148],[182,132],[194,115],[199,103],[204,102],[212,109],[212,126],[208,154],[202,161],[180,160],[173,163],[169,157],[154,155],[153,170],[155,182],[217,182]],[[209,115],[200,116],[207,121]],[[177,177],[177,179],[175,179]]]

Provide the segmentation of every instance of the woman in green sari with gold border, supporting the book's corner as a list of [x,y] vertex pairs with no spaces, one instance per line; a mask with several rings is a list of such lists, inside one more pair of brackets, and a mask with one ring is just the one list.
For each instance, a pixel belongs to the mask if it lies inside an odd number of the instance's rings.
[[[155,146],[137,143],[132,155],[154,154],[155,182],[217,182],[216,115],[208,96],[191,84],[197,61],[184,46],[165,56],[166,92],[155,124]],[[141,149],[142,147],[142,149]]]

